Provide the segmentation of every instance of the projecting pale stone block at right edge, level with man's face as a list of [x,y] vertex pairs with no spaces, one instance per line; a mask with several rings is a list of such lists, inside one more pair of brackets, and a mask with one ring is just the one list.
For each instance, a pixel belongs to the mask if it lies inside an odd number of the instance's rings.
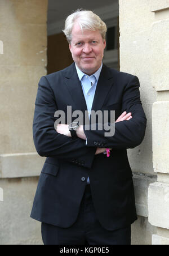
[[[169,16],[169,15],[168,15]],[[149,56],[153,59],[151,64],[152,84],[156,91],[169,90],[169,19],[154,22],[150,32],[151,51]]]

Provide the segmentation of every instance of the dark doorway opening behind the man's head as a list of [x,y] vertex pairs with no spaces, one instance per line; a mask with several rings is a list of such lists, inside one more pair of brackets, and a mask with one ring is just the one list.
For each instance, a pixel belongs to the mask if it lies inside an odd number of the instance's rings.
[[112,0],[106,0],[106,6],[102,0],[87,0],[85,2],[82,0],[73,2],[48,0],[47,74],[62,70],[73,63],[69,45],[62,30],[66,17],[79,8],[94,11],[106,23],[108,27],[106,33],[107,46],[103,63],[108,67],[119,70],[118,0],[114,0],[113,4]]

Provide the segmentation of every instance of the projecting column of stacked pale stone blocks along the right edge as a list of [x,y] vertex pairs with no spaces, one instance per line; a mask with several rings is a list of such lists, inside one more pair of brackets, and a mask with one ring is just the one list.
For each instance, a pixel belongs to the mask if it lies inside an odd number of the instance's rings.
[[152,0],[153,166],[158,180],[149,186],[149,222],[157,226],[153,245],[169,245],[169,1]]

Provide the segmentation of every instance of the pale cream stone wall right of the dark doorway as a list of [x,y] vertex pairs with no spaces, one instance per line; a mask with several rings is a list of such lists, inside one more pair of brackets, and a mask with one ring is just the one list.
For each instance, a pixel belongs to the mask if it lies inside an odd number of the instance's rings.
[[169,238],[168,5],[168,0],[119,0],[121,71],[139,77],[148,119],[144,142],[128,150],[139,216],[132,244],[152,244],[152,234],[153,244]]

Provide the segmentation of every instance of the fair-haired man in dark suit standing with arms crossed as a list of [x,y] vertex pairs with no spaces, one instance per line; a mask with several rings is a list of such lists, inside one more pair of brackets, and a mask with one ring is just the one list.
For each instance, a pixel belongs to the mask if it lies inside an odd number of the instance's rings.
[[[64,33],[74,63],[43,76],[35,101],[34,143],[47,158],[31,217],[42,222],[45,245],[129,245],[137,216],[126,149],[143,141],[146,127],[139,79],[103,65],[106,25],[93,12],[74,12]],[[55,125],[57,110],[69,118],[67,106],[89,118],[107,110],[109,125],[115,110],[115,134],[105,136],[98,121],[92,129],[86,118],[74,131]]]

